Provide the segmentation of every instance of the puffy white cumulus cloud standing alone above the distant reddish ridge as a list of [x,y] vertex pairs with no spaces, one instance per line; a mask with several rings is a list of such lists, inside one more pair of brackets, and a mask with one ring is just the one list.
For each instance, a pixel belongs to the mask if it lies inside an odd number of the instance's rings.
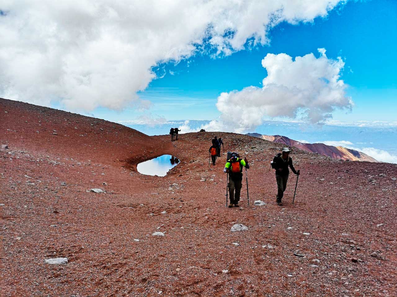
[[[237,133],[253,131],[264,116],[303,118],[311,124],[323,123],[335,109],[348,109],[353,101],[340,79],[344,62],[328,59],[325,49],[293,59],[285,53],[267,54],[262,66],[268,76],[262,88],[250,86],[241,91],[222,93],[216,107],[220,121],[207,127],[221,126]],[[220,128],[220,127],[219,127]]]

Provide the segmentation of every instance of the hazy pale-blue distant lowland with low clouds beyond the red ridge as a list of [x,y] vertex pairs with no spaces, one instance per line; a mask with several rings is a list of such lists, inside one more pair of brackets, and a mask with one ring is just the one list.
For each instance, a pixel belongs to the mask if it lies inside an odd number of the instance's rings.
[[[164,135],[169,133],[171,127],[179,127],[182,130],[181,133],[199,131],[209,122],[209,120],[173,120],[156,125],[137,121],[121,121],[120,123],[147,135]],[[333,121],[323,126],[307,126],[300,122],[264,121],[255,131],[247,132],[283,135],[306,143],[341,145],[364,152],[376,160],[397,164],[396,126],[395,122],[341,123]]]

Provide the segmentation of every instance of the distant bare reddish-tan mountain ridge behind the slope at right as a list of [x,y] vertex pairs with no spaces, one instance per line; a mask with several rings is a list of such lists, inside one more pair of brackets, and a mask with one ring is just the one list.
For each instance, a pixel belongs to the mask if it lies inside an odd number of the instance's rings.
[[350,148],[334,147],[332,145],[325,145],[324,143],[301,143],[299,141],[280,135],[261,135],[259,133],[248,133],[247,135],[262,138],[272,142],[283,143],[290,147],[297,147],[301,150],[306,150],[306,152],[315,152],[317,154],[322,154],[323,156],[328,156],[333,159],[378,162],[367,154],[364,154],[363,152],[359,152],[357,150],[352,150]]

